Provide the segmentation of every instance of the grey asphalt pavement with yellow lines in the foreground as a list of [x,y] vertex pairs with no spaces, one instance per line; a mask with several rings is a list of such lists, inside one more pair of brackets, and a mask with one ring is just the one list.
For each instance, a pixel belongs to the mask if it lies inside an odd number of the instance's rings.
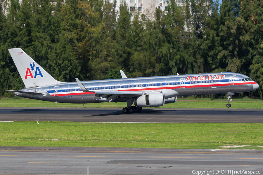
[[263,150],[0,147],[0,174],[87,174],[87,167],[89,174],[104,175],[262,174],[262,155]]

